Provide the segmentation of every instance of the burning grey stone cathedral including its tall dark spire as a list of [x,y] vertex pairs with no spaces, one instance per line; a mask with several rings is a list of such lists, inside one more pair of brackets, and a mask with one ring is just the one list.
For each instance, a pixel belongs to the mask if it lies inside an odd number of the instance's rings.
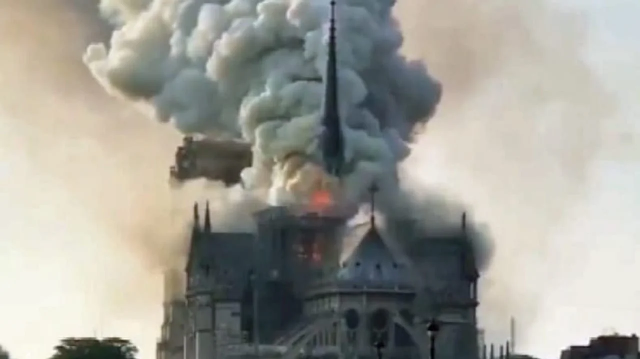
[[[334,8],[322,147],[326,173],[340,178],[349,165]],[[182,153],[172,173],[190,178],[198,166]],[[438,358],[478,359],[479,274],[465,216],[448,233],[425,234],[407,218],[377,224],[373,200],[365,224],[349,224],[340,211],[271,206],[255,213],[252,233],[214,231],[209,206],[201,219],[196,205],[186,294],[166,298],[157,358],[426,359],[435,350]],[[437,338],[429,337],[434,322]]]

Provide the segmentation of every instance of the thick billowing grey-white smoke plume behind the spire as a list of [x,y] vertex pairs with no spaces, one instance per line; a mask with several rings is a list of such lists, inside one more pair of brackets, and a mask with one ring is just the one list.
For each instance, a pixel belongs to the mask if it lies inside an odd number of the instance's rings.
[[[353,199],[367,182],[395,178],[415,126],[440,100],[440,84],[399,54],[393,1],[337,6],[340,112]],[[185,134],[241,138],[253,146],[245,185],[294,201],[316,183],[326,68],[324,0],[103,0],[118,29],[84,56],[112,94],[153,106]],[[386,180],[385,180],[386,179]]]

